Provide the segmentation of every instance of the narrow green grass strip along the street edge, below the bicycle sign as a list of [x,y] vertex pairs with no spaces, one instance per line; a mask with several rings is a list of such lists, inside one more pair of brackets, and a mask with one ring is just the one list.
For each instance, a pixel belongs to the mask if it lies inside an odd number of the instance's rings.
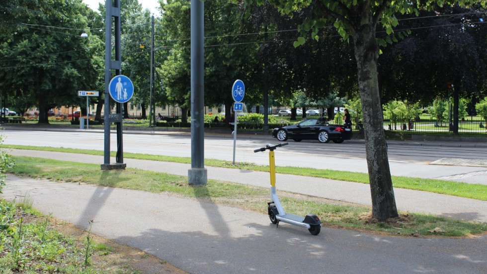
[[[100,150],[21,146],[21,145],[2,145],[0,147],[11,148],[11,149],[26,149],[26,150],[79,153],[79,154],[89,154],[89,155],[103,155],[103,151]],[[115,152],[110,152],[110,154],[112,157],[115,156]],[[174,157],[174,156],[162,156],[162,155],[151,155],[151,154],[127,153],[127,152],[124,152],[124,157],[130,159],[138,159],[138,160],[152,160],[152,161],[161,161],[161,162],[191,164],[191,158],[189,157]],[[236,165],[233,165],[232,162],[230,161],[215,160],[215,159],[205,159],[205,165],[210,167],[235,168],[235,169],[261,171],[261,172],[269,171],[269,167],[265,165],[256,165],[252,163],[237,163]],[[355,182],[355,183],[369,183],[369,175],[360,172],[345,172],[345,171],[322,170],[322,169],[313,169],[313,168],[298,168],[298,167],[276,167],[276,173],[324,178],[324,179]],[[394,187],[428,191],[433,193],[487,201],[487,185],[484,184],[461,183],[461,182],[454,182],[454,181],[413,178],[413,177],[404,177],[404,176],[392,176],[392,182],[394,184]]]

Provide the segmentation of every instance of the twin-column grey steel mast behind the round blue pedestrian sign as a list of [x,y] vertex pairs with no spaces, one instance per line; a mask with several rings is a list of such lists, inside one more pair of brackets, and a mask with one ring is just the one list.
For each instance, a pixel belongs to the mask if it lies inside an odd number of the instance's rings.
[[[123,163],[123,139],[122,139],[122,113],[123,104],[117,103],[117,114],[110,114],[110,94],[109,83],[112,78],[111,70],[115,70],[115,75],[122,74],[122,53],[121,53],[121,26],[120,26],[120,0],[105,1],[105,115],[103,117],[105,143],[103,150],[102,170],[125,169]],[[112,17],[115,23],[115,60],[112,60]],[[110,164],[110,123],[117,123],[117,155],[116,163]]]

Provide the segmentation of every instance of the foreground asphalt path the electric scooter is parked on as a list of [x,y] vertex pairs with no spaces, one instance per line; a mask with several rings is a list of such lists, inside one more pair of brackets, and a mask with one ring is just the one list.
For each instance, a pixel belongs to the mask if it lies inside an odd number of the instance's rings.
[[391,237],[323,227],[318,236],[264,214],[147,191],[9,176],[45,214],[194,274],[485,274],[487,237]]

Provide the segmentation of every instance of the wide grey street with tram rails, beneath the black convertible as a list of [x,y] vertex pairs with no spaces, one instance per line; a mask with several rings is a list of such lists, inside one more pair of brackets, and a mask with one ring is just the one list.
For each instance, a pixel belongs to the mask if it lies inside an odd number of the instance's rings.
[[[5,129],[4,144],[52,146],[103,150],[102,130],[41,131]],[[110,149],[116,151],[116,135],[111,134]],[[268,135],[237,135],[236,161],[268,164],[265,153],[253,150],[277,140]],[[230,134],[205,134],[205,159],[233,160],[233,137]],[[124,132],[123,151],[166,156],[190,157],[189,132]],[[388,141],[391,174],[395,176],[452,180],[487,184],[487,166],[431,165],[441,159],[486,160],[485,144]],[[276,152],[276,165],[311,167],[367,173],[363,140],[342,144],[316,141],[289,141]]]

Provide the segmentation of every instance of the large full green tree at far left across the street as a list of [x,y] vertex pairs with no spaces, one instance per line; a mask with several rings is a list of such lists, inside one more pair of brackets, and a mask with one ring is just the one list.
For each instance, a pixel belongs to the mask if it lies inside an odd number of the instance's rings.
[[[88,29],[90,9],[79,0],[53,1],[55,12],[25,20],[11,39],[0,39],[0,89],[8,90],[7,100],[25,109],[39,108],[39,122],[48,123],[49,109],[80,105],[80,90],[93,90],[102,70],[103,45],[96,35],[81,37]],[[47,27],[46,27],[47,26]]]

